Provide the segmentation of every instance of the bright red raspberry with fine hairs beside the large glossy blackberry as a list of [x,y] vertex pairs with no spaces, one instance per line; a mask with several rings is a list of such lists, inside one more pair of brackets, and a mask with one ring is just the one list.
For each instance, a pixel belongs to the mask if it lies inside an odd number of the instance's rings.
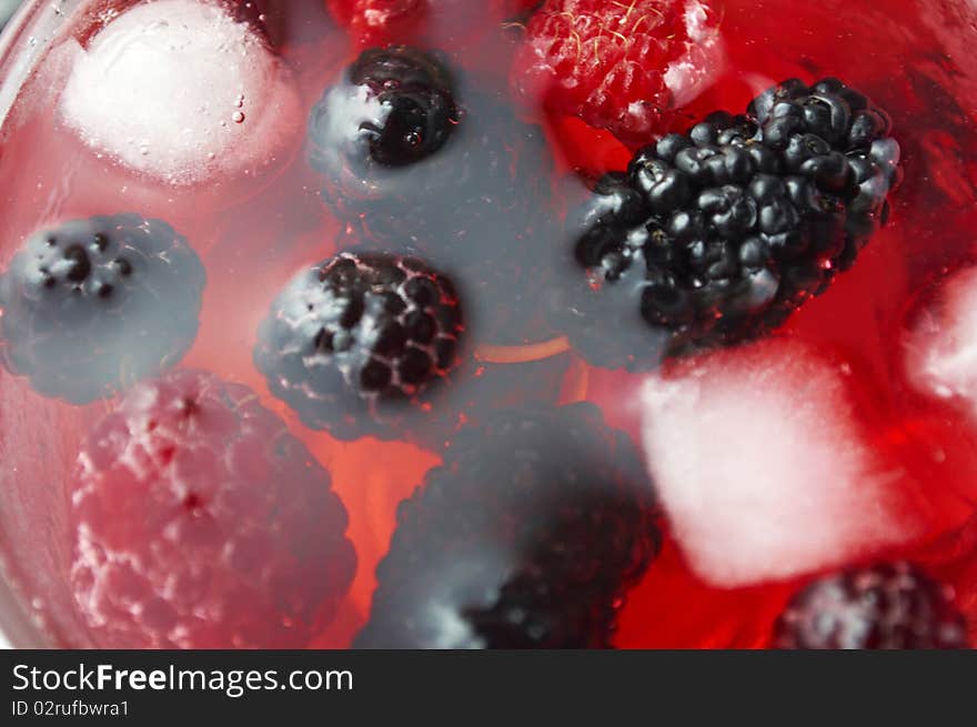
[[628,144],[664,130],[716,44],[705,0],[546,0],[526,28],[512,83],[531,102]]

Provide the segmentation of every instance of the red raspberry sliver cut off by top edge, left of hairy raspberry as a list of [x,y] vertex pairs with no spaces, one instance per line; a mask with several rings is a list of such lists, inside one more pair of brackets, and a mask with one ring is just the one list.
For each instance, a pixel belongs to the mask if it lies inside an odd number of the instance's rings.
[[333,19],[361,46],[445,40],[486,29],[538,4],[538,0],[325,0]]

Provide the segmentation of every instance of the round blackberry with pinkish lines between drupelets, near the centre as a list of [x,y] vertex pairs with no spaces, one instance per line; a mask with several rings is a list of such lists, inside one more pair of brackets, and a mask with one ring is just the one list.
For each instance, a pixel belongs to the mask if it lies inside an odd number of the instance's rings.
[[426,416],[457,364],[452,283],[397,255],[343,252],[302,271],[259,331],[254,363],[275,396],[340,440],[393,438]]

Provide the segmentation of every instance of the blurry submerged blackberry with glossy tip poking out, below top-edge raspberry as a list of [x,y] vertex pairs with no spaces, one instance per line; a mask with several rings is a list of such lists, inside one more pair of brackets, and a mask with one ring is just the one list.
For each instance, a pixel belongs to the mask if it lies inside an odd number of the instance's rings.
[[[422,74],[415,65],[436,70]],[[375,82],[355,79],[371,79],[373,68],[410,78],[411,88],[426,89],[423,98],[439,100],[425,107],[425,118],[432,127],[441,121],[447,127],[423,137],[432,141],[423,153],[405,156],[411,163],[374,159],[371,130],[380,113],[350,101],[372,98]],[[552,329],[542,315],[538,282],[552,266],[538,251],[555,248],[560,235],[550,222],[553,162],[543,132],[520,121],[504,99],[467,92],[449,79],[441,57],[407,47],[361,55],[310,118],[310,163],[322,175],[322,198],[345,223],[348,242],[436,261],[470,302],[467,323],[479,340],[545,339]],[[410,85],[399,82],[397,89]],[[445,95],[451,104],[442,103]]]

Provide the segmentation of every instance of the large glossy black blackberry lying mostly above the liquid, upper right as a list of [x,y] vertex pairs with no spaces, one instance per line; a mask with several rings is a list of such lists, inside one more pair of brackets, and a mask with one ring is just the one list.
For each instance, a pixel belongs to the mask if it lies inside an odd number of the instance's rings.
[[641,149],[573,220],[587,271],[563,305],[574,345],[643,368],[779,326],[887,220],[899,181],[889,131],[840,81],[792,80],[746,114],[716,112]]

